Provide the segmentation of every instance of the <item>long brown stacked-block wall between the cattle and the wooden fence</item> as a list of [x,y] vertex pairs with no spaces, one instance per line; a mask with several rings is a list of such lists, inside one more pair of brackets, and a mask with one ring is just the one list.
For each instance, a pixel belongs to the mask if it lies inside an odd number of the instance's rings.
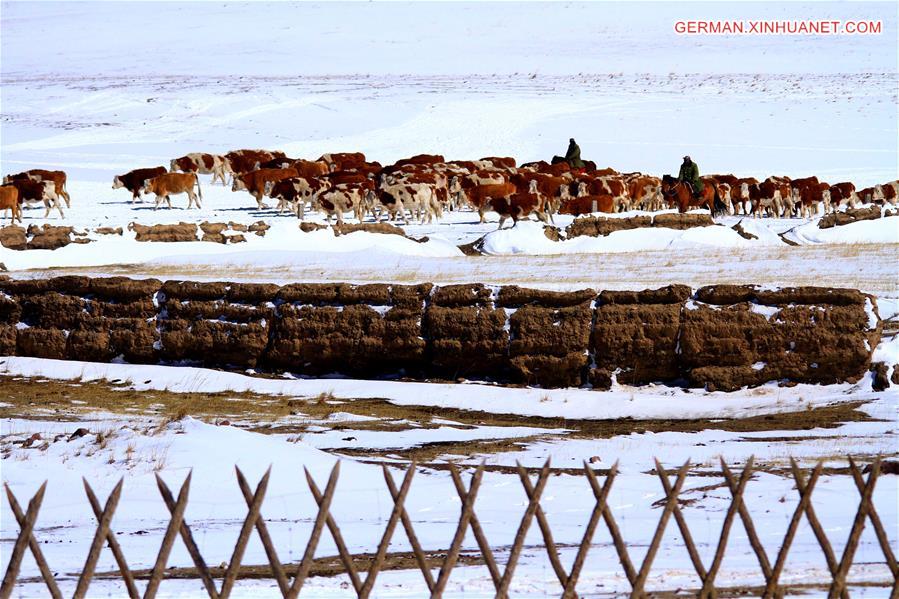
[[880,334],[874,298],[851,289],[0,278],[0,355],[309,376],[831,384],[869,371]]

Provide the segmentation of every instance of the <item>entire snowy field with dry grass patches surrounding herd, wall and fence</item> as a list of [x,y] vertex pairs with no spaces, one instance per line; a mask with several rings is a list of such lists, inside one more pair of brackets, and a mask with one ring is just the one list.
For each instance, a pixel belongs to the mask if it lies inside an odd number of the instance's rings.
[[[673,33],[675,20],[700,16],[879,19],[883,33]],[[729,216],[717,219],[723,226],[551,242],[536,223],[496,232],[495,214],[478,224],[476,214],[464,211],[404,227],[408,238],[334,237],[327,230],[302,233],[294,216],[260,211],[247,193],[213,186],[209,177],[201,178],[201,210],[185,209],[184,196],[176,196],[174,209],[154,211],[149,202],[131,204],[130,193],[111,189],[117,174],[168,165],[188,152],[260,147],[305,158],[362,151],[384,164],[417,153],[526,162],[564,153],[571,136],[584,158],[624,172],[674,173],[688,153],[703,174],[817,175],[867,187],[899,176],[891,3],[4,2],[0,27],[0,172],[65,170],[72,196],[65,218],[45,220],[42,209],[29,209],[24,224],[71,225],[94,239],[53,251],[0,247],[0,264],[9,271],[2,274],[279,284],[478,281],[565,290],[671,283],[851,287],[877,296],[887,321],[875,358],[899,362],[896,217],[821,230],[816,219]],[[239,245],[138,243],[127,229],[121,237],[92,233],[131,222],[259,220],[271,229]],[[557,216],[555,224],[570,222]],[[757,239],[741,237],[732,228],[738,223]],[[466,256],[458,247],[482,237],[485,255]],[[323,486],[341,461],[333,513],[350,551],[362,553],[375,550],[393,505],[381,464],[397,481],[409,463],[420,464],[407,508],[422,545],[437,550],[449,546],[460,510],[447,464],[462,466],[467,481],[485,461],[476,512],[502,564],[527,506],[512,468],[520,462],[536,479],[534,469],[551,458],[541,505],[568,568],[594,505],[587,480],[575,472],[584,460],[596,458],[590,464],[599,472],[619,461],[610,506],[639,564],[661,511],[651,506],[664,498],[652,458],[666,468],[691,459],[695,474],[685,484],[682,509],[708,564],[730,504],[719,456],[735,472],[755,456],[758,471],[746,503],[772,559],[798,502],[790,457],[806,472],[824,462],[813,504],[838,556],[859,497],[846,456],[865,463],[899,457],[899,393],[895,386],[873,391],[870,375],[856,384],[706,393],[653,385],[596,392],[253,374],[0,357],[0,476],[23,504],[50,481],[35,534],[66,595],[75,589],[73,573],[95,528],[82,477],[101,501],[125,477],[113,528],[129,566],[140,569],[153,566],[168,521],[155,474],[175,489],[192,472],[186,518],[207,562],[217,566],[230,559],[246,514],[233,466],[251,485],[271,466],[263,512],[280,557],[296,563],[315,517],[304,466]],[[67,440],[82,427],[87,435]],[[25,447],[35,434],[39,440]],[[882,476],[873,496],[894,550],[897,480]],[[675,530],[670,523],[653,568],[654,590],[700,586]],[[17,532],[4,496],[4,564]],[[511,596],[559,594],[541,546],[534,524]],[[390,552],[409,548],[398,531]],[[463,548],[478,559],[470,532]],[[325,533],[316,555],[336,553]],[[267,563],[255,536],[243,562]],[[169,565],[191,565],[180,540]],[[382,572],[373,596],[426,596],[414,567]],[[115,569],[104,549],[97,571]],[[43,596],[37,576],[26,557],[24,582],[13,596]],[[796,585],[796,593],[824,596],[820,583],[828,577],[803,521],[783,582]],[[890,577],[866,527],[850,571],[852,595],[886,596]],[[747,588],[764,583],[739,520],[718,582],[749,594]],[[629,588],[600,525],[578,590],[617,597]],[[123,593],[108,578],[91,586],[91,596]],[[204,594],[196,578],[166,580],[160,592]],[[270,579],[241,579],[233,595],[280,596]],[[490,576],[476,561],[454,571],[446,592],[493,595]],[[332,575],[311,578],[302,596],[355,594],[346,576]]]

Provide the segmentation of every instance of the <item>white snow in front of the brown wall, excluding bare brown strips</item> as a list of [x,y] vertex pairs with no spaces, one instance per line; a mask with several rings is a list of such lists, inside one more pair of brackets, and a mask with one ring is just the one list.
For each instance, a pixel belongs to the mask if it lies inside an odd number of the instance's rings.
[[[895,343],[893,343],[895,345]],[[896,353],[896,348],[884,346],[881,353]],[[828,468],[815,492],[815,510],[824,524],[837,555],[848,535],[854,515],[857,491],[851,478],[840,473],[845,456],[884,455],[895,457],[895,424],[899,394],[871,391],[870,379],[857,385],[820,388],[800,385],[778,389],[763,387],[733,394],[692,393],[675,390],[656,391],[618,388],[611,393],[577,391],[503,390],[486,385],[456,385],[451,393],[440,385],[402,385],[386,382],[266,380],[200,369],[171,369],[162,367],[129,366],[121,364],[53,363],[40,360],[7,358],[4,360],[3,380],[9,377],[37,377],[33,380],[72,379],[76,385],[92,384],[100,379],[115,381],[119,389],[154,390],[167,393],[248,391],[272,395],[287,401],[291,398],[314,398],[328,383],[328,401],[333,404],[332,416],[316,421],[314,429],[303,435],[271,434],[244,430],[252,422],[237,426],[215,426],[191,417],[168,422],[159,417],[127,410],[113,410],[94,416],[54,422],[43,410],[36,410],[35,419],[7,417],[2,421],[0,450],[4,455],[4,478],[24,501],[45,479],[50,481],[37,534],[42,549],[54,571],[75,572],[83,561],[93,526],[93,516],[86,501],[79,500],[77,489],[81,477],[89,478],[101,500],[121,476],[125,488],[114,520],[114,530],[129,558],[132,568],[152,565],[158,536],[166,523],[166,510],[158,499],[154,474],[160,473],[170,486],[176,487],[187,472],[192,473],[190,502],[186,513],[197,543],[211,564],[227,562],[237,527],[246,513],[246,504],[232,480],[230,469],[237,465],[255,483],[268,467],[272,467],[272,481],[263,506],[263,514],[281,557],[291,562],[302,555],[309,526],[315,514],[314,503],[300,469],[307,467],[319,485],[323,485],[341,448],[353,447],[357,452],[365,448],[383,452],[384,461],[403,468],[404,460],[391,458],[390,451],[415,447],[421,443],[456,443],[519,437],[521,441],[511,451],[479,455],[478,450],[466,458],[452,455],[454,451],[431,462],[416,476],[407,500],[416,533],[428,549],[448,546],[452,527],[458,516],[459,501],[448,473],[435,468],[447,460],[475,465],[486,458],[488,472],[476,503],[476,513],[491,544],[502,563],[514,536],[519,518],[526,506],[526,496],[515,474],[499,466],[521,463],[539,467],[551,458],[554,468],[561,468],[551,477],[543,496],[542,507],[560,545],[563,563],[570,564],[583,526],[593,506],[586,479],[576,475],[584,460],[592,459],[594,468],[609,468],[619,461],[621,474],[613,487],[610,505],[631,547],[631,557],[639,562],[659,515],[650,504],[664,497],[656,476],[650,472],[652,458],[663,465],[676,468],[690,459],[695,471],[703,476],[691,477],[682,496],[688,501],[683,507],[685,518],[693,531],[703,559],[708,563],[714,553],[718,530],[729,494],[721,486],[720,476],[711,473],[718,468],[718,456],[725,456],[732,468],[738,469],[751,456],[760,471],[749,482],[747,506],[765,547],[776,551],[783,531],[795,509],[798,497],[792,479],[787,474],[788,458],[796,458],[803,468],[824,460]],[[26,379],[27,380],[27,379]],[[39,383],[38,383],[39,384]],[[124,385],[124,387],[122,386]],[[202,394],[201,392],[201,394]],[[464,399],[463,399],[464,393]],[[581,418],[634,419],[634,432],[615,434],[608,438],[569,438],[566,429],[544,426],[463,426],[445,418],[434,418],[436,428],[421,429],[408,426],[391,432],[366,430],[370,418],[347,414],[346,406],[367,395],[388,398],[397,405],[450,406],[452,396],[458,396],[456,407],[489,410],[502,414],[537,414],[554,416],[564,413],[569,426],[575,427]],[[507,396],[515,401],[503,401]],[[197,398],[200,401],[200,398]],[[313,400],[314,401],[314,400]],[[724,419],[747,418],[756,415],[776,415],[795,411],[797,407],[811,414],[812,410],[841,403],[861,402],[859,408],[866,418],[859,422],[836,423],[828,427],[805,427],[804,430],[779,430],[776,425],[757,432],[731,431]],[[70,410],[77,410],[73,402]],[[301,404],[300,404],[301,405]],[[0,408],[10,408],[3,404]],[[302,409],[302,408],[300,408]],[[70,410],[63,410],[67,413]],[[56,410],[59,414],[59,410]],[[709,424],[686,432],[639,432],[640,422],[670,418],[713,417]],[[714,422],[722,423],[718,430]],[[277,424],[277,422],[275,423]],[[333,428],[335,425],[340,428]],[[89,434],[67,440],[78,427]],[[354,428],[354,427],[358,427]],[[24,448],[16,445],[33,433],[47,440]],[[100,438],[102,435],[103,438]],[[352,440],[338,442],[335,440]],[[388,442],[385,442],[389,440]],[[324,453],[328,449],[331,453]],[[336,451],[337,456],[333,455]],[[358,455],[358,454],[357,454]],[[9,475],[10,469],[14,474]],[[400,472],[393,470],[397,478]],[[875,505],[888,531],[895,533],[899,525],[899,510],[895,502],[899,493],[895,476],[883,476],[874,492]],[[73,492],[76,493],[73,496]],[[5,500],[4,500],[5,503]],[[360,510],[360,506],[366,506]],[[344,457],[341,478],[332,512],[341,525],[343,537],[352,552],[372,551],[374,539],[379,538],[392,503],[383,484],[380,468]],[[4,505],[4,509],[8,509]],[[11,519],[4,518],[3,546],[9,548],[14,536]],[[670,526],[674,526],[673,521]],[[662,545],[658,568],[664,578],[653,577],[653,588],[690,588],[697,584],[691,574],[689,559],[680,544],[679,535],[669,533]],[[895,538],[891,536],[891,542]],[[552,571],[542,550],[536,526],[527,537],[528,549],[522,557],[519,576],[513,585],[518,596],[555,594]],[[851,573],[855,581],[884,581],[889,573],[882,562],[877,541],[870,527],[863,535],[862,545]],[[468,537],[464,547],[476,550],[476,542]],[[398,532],[391,551],[408,550],[403,533]],[[336,546],[326,534],[318,555],[334,555]],[[617,565],[614,548],[603,528],[591,549],[590,566],[579,585],[591,595],[615,595],[627,589],[626,580]],[[755,557],[741,525],[737,523],[731,536],[725,566],[719,578],[722,585],[758,584],[762,582]],[[170,558],[171,565],[189,566],[190,558],[177,543]],[[244,558],[246,564],[264,564],[262,546],[255,539]],[[820,550],[811,529],[800,526],[785,572],[785,582],[803,583],[821,580],[826,576]],[[99,570],[114,570],[111,554],[104,553]],[[655,571],[655,570],[654,570]],[[656,571],[658,572],[658,571]],[[36,570],[26,561],[24,574],[34,576]],[[341,590],[342,577],[312,579],[307,587],[311,596],[345,596]],[[76,580],[62,576],[64,588],[73,587]],[[20,586],[23,596],[38,592],[39,583]],[[117,593],[116,583],[97,581],[95,592]],[[459,596],[490,596],[492,584],[483,567],[461,568],[451,579],[449,590]],[[162,590],[165,596],[177,593],[192,595],[201,592],[196,581],[167,581]],[[277,593],[270,581],[242,581],[237,587],[240,595],[266,596]],[[874,590],[870,596],[877,596]],[[379,578],[378,596],[414,597],[425,593],[424,583],[415,572],[384,573]]]

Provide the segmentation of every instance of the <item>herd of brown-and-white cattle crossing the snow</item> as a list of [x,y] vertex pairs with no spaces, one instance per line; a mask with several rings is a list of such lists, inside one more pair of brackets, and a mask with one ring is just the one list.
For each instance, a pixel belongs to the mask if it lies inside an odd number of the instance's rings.
[[[290,210],[304,218],[307,210],[320,210],[331,222],[352,213],[362,222],[367,215],[380,221],[410,216],[431,222],[444,211],[469,207],[484,222],[488,211],[499,214],[502,228],[535,215],[551,222],[554,214],[580,215],[593,212],[655,211],[677,208],[686,212],[702,200],[685,201],[689,195],[669,189],[669,178],[642,173],[619,173],[597,169],[588,163],[572,170],[567,163],[530,162],[516,165],[513,158],[488,157],[480,160],[447,161],[443,156],[420,154],[383,166],[369,162],[361,153],[324,154],[317,160],[288,158],[266,150],[236,150],[224,155],[194,153],[171,161],[169,168],[140,168],[118,175],[113,189],[131,192],[131,201],[141,194],[154,195],[158,208],[164,201],[171,208],[175,194],[188,196],[188,208],[200,207],[203,198],[198,175],[212,175],[212,183],[231,180],[232,191],[247,191],[260,209],[263,198],[277,202],[279,213]],[[702,177],[714,191],[713,212],[805,217],[840,206],[863,203],[897,203],[899,181],[856,190],[852,183],[831,185],[816,177],[790,179],[710,175]],[[44,216],[56,208],[63,216],[61,200],[70,206],[62,171],[30,170],[8,175],[0,186],[0,209],[12,210],[21,221],[21,205],[43,204]],[[706,194],[708,196],[708,194]],[[678,198],[681,198],[680,200]]]

